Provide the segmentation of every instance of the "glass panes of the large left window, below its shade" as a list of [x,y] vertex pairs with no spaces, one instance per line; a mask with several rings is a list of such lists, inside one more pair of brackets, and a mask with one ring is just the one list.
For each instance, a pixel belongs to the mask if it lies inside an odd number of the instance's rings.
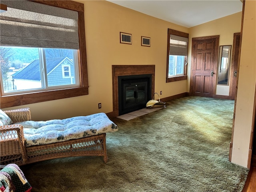
[[10,46],[0,50],[5,53],[1,54],[2,95],[79,86],[76,50]]

